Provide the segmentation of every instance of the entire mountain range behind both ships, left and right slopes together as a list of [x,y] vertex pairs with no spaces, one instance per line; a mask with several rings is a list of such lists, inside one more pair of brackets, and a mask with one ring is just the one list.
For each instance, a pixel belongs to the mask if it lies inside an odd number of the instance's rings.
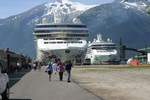
[[[150,43],[150,16],[145,0],[115,0],[100,6],[86,6],[77,2],[58,0],[44,3],[24,13],[0,19],[0,49],[36,56],[33,31],[36,23],[43,18],[53,22],[54,13],[59,10],[64,22],[78,17],[87,25],[92,41],[97,33],[110,38],[118,45],[120,37],[123,43],[133,48],[143,48]],[[131,54],[130,54],[131,56]]]

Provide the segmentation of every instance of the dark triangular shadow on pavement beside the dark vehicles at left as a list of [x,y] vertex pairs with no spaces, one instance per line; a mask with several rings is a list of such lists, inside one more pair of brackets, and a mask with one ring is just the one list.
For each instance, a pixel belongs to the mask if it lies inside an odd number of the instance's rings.
[[[10,88],[15,85],[20,79],[32,69],[21,70],[20,72],[9,73],[9,86]],[[31,99],[10,99],[10,100],[31,100]]]

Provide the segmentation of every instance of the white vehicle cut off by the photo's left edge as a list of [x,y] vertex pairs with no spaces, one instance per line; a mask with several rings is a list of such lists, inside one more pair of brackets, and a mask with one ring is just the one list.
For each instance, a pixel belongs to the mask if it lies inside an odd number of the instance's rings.
[[2,100],[9,100],[9,93],[9,78],[0,63],[0,95],[2,96]]

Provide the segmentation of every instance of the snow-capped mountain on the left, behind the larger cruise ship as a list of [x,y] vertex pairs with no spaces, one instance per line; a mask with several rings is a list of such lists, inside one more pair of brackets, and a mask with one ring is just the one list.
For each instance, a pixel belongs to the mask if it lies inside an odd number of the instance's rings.
[[94,6],[58,0],[54,3],[41,4],[27,12],[6,19],[0,19],[0,49],[10,48],[10,51],[35,57],[33,31],[36,23],[41,23],[43,18],[53,22],[54,13],[57,10],[61,12],[64,22],[70,22]]

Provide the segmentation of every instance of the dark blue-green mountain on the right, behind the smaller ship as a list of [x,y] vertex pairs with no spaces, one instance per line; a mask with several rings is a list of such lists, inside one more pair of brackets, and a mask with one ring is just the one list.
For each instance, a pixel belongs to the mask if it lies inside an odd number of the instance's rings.
[[[100,5],[85,11],[78,18],[90,30],[90,41],[101,33],[103,38],[110,38],[118,46],[122,38],[128,47],[144,48],[145,43],[150,46],[150,16],[146,7],[150,5],[145,0],[116,0],[113,3]],[[127,52],[127,56],[133,54]]]

